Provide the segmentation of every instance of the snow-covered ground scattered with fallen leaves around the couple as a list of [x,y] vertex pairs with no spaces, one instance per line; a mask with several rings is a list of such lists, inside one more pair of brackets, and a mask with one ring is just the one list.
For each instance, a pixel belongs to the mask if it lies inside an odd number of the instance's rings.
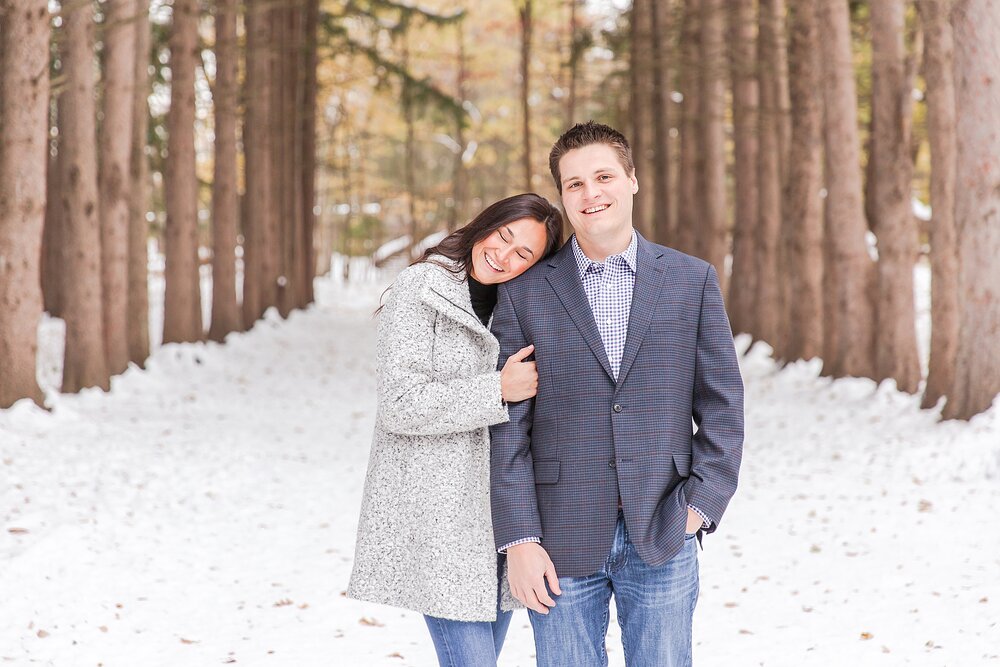
[[[436,664],[418,615],[343,595],[381,289],[320,280],[316,307],[160,348],[108,394],[51,390],[47,322],[52,411],[0,411],[0,663]],[[1000,665],[1000,406],[940,423],[890,383],[778,370],[763,345],[743,372],[743,475],[699,554],[695,663]],[[614,621],[608,646],[624,664]],[[501,664],[532,654],[518,612]]]

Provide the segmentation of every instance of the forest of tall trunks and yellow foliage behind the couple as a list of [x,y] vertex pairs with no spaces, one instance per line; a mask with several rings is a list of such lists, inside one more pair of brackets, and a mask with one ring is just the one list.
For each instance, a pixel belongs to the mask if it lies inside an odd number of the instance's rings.
[[498,198],[555,200],[548,148],[590,118],[632,141],[637,228],[719,268],[735,332],[945,417],[1000,393],[989,0],[4,0],[0,21],[0,407],[44,402],[43,311],[63,391],[106,389],[151,340],[305,307],[334,253],[405,264]]

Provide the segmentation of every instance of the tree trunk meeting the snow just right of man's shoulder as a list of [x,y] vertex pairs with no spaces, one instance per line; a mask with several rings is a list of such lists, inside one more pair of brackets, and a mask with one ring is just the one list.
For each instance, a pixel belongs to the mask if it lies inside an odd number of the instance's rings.
[[757,85],[756,20],[753,0],[737,0],[729,11],[729,57],[733,79],[733,150],[735,165],[735,220],[733,221],[733,276],[729,286],[729,319],[733,333],[756,334],[757,139],[759,93]]

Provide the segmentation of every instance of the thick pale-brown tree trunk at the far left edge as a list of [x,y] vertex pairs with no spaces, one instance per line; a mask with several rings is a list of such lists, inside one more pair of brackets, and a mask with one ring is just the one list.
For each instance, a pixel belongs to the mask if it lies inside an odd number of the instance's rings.
[[49,143],[49,10],[0,2],[0,409],[29,398],[36,379],[39,281]]

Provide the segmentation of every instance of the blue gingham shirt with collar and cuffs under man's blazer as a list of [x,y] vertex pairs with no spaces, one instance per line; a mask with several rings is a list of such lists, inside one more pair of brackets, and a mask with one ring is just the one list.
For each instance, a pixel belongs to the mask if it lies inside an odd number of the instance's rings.
[[[595,262],[587,257],[574,234],[570,243],[573,244],[573,256],[580,269],[580,281],[583,291],[587,294],[587,302],[594,314],[597,331],[601,334],[604,351],[608,355],[608,363],[615,379],[618,379],[618,369],[621,368],[622,354],[625,352],[625,338],[628,336],[628,316],[632,309],[632,292],[635,290],[636,240],[635,230],[632,230],[632,240],[628,247],[617,255],[611,255],[603,262]],[[688,505],[702,518],[702,527],[708,528],[711,521],[697,507]],[[501,552],[525,542],[541,542],[537,537],[526,537],[522,540],[504,545]]]

